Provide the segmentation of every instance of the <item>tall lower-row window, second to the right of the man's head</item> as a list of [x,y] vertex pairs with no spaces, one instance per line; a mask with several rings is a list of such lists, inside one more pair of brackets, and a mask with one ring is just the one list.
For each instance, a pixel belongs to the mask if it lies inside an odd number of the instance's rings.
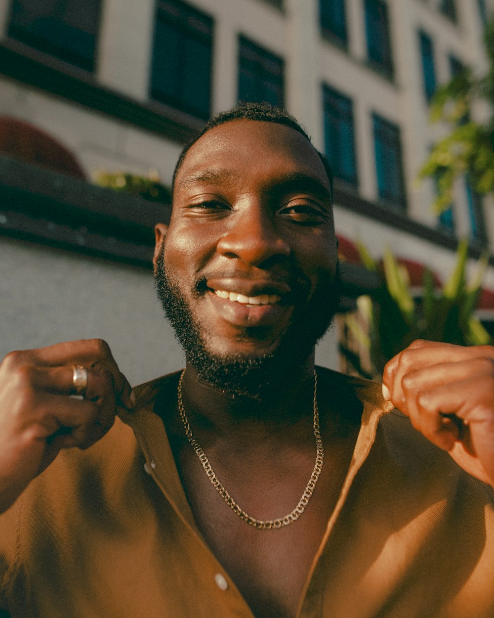
[[377,114],[372,116],[372,121],[377,192],[382,200],[405,208],[400,129]]

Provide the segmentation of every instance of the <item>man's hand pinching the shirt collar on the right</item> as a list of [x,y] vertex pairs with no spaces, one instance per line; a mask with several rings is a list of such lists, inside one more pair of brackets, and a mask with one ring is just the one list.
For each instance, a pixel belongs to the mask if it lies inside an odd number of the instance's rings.
[[494,487],[494,347],[414,341],[387,363],[383,385],[416,430]]

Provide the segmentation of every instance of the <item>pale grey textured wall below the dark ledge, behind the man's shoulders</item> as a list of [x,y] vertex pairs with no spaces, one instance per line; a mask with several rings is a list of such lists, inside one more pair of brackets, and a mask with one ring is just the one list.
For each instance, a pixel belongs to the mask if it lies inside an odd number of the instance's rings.
[[[90,337],[108,342],[132,384],[183,366],[151,271],[0,237],[0,358]],[[337,366],[329,337],[317,362]]]

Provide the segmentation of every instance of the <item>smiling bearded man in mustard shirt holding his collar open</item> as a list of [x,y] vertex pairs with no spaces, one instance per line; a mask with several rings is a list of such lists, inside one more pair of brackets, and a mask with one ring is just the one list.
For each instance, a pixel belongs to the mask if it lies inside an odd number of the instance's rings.
[[314,371],[338,289],[331,182],[283,112],[211,121],[173,195],[154,268],[186,370],[132,393],[100,341],[0,366],[2,606],[494,616],[494,350],[416,342],[388,401]]

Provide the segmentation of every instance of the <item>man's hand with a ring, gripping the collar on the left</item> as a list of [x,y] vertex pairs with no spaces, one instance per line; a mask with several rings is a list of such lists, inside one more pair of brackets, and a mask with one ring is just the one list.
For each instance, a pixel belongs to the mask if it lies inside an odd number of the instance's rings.
[[[75,394],[73,366],[88,383]],[[0,363],[0,512],[7,510],[61,449],[87,449],[106,434],[132,389],[101,339],[11,352]]]

